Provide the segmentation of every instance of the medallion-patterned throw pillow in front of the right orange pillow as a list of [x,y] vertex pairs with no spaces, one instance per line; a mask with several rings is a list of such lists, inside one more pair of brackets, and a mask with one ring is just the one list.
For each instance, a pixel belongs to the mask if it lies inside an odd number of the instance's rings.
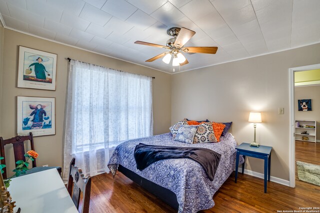
[[194,144],[208,142],[217,142],[212,128],[212,122],[200,124],[193,138]]

